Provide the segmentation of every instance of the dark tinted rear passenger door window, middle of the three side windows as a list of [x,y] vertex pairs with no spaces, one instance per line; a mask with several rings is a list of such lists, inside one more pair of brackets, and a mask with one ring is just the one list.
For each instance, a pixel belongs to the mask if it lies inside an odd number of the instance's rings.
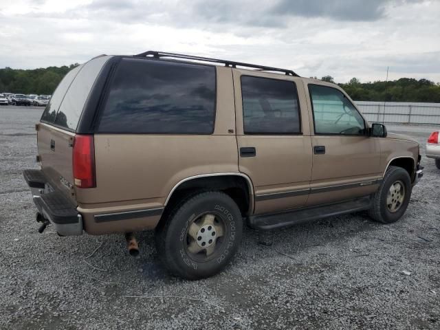
[[298,134],[298,94],[292,81],[241,77],[245,134]]

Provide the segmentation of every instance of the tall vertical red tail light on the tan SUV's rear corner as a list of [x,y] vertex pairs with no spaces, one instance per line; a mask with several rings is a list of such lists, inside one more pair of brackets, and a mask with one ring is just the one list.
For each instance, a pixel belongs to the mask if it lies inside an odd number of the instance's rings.
[[75,135],[73,167],[75,186],[96,187],[94,135]]

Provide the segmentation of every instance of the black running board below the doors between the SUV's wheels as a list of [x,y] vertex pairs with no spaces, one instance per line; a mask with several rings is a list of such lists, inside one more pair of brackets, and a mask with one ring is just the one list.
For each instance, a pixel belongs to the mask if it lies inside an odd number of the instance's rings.
[[253,215],[249,217],[248,221],[252,228],[271,230],[334,215],[368,210],[371,207],[371,201],[371,196],[367,196],[351,201],[300,208],[282,213]]

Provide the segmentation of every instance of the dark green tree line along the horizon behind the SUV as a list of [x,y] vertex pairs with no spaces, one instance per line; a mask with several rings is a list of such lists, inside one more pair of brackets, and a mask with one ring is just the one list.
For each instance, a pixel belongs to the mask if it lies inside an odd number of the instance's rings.
[[[78,63],[45,69],[0,69],[0,93],[52,94],[61,79]],[[316,77],[312,77],[316,78]],[[321,80],[335,83],[333,77]],[[440,102],[440,84],[428,79],[400,78],[393,81],[361,83],[351,78],[349,83],[339,83],[353,100],[388,102]]]

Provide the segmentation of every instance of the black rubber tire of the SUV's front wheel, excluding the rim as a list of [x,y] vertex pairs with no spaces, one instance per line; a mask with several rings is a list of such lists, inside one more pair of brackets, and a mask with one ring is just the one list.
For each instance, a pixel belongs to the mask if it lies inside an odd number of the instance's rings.
[[[396,212],[391,212],[386,205],[386,197],[391,185],[395,184],[396,181],[400,181],[404,184],[405,196],[399,209]],[[404,215],[408,203],[410,202],[411,189],[411,179],[408,172],[401,167],[389,166],[380,188],[375,195],[373,195],[373,205],[369,210],[370,217],[382,223],[393,223],[399,220],[401,216]]]

